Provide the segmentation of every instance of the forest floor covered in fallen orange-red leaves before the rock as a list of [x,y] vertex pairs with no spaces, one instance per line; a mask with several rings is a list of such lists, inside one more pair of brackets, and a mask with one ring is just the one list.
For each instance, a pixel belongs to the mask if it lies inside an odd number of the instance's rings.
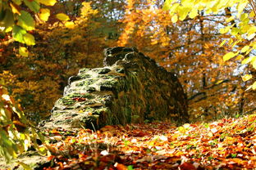
[[255,169],[256,114],[213,123],[48,131],[52,169]]

